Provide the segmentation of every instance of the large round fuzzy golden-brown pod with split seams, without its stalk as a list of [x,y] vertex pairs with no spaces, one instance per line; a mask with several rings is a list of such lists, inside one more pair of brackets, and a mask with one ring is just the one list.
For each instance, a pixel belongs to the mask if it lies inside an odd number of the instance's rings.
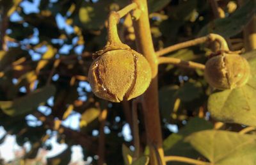
[[111,102],[131,100],[147,90],[151,69],[147,59],[132,49],[107,51],[90,66],[93,93]]

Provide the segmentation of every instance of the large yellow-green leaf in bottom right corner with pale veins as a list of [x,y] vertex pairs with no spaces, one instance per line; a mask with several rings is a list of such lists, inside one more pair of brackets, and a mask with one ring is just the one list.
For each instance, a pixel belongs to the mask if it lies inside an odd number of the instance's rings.
[[213,165],[253,165],[256,162],[256,136],[224,130],[204,130],[186,141]]

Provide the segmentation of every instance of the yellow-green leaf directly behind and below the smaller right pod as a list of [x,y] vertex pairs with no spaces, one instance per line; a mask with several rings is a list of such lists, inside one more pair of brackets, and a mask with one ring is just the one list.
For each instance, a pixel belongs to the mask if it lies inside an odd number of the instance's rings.
[[248,58],[251,68],[248,83],[234,90],[212,93],[208,109],[216,120],[256,126],[256,53],[253,51],[244,57]]

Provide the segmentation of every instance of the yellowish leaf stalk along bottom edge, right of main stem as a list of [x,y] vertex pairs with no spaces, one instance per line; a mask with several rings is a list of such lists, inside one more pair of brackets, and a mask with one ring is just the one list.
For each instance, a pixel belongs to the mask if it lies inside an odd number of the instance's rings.
[[188,164],[196,164],[196,165],[210,165],[210,162],[198,161],[188,157],[167,156],[167,157],[164,157],[164,159],[166,162],[176,161],[176,162],[186,162]]

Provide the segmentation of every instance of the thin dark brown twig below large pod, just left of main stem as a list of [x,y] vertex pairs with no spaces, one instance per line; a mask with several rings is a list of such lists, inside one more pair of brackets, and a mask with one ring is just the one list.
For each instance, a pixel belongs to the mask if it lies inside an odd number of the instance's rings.
[[138,128],[138,99],[132,101],[132,130],[133,130],[133,143],[134,154],[132,161],[136,161],[140,157],[140,134]]

